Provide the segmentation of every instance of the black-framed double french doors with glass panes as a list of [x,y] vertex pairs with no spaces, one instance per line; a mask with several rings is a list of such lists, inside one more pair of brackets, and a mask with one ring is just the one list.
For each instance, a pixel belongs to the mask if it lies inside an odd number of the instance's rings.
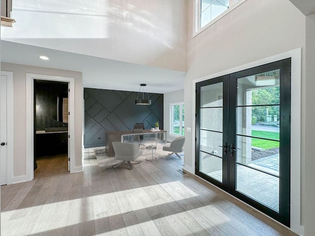
[[196,84],[196,175],[290,222],[290,59]]

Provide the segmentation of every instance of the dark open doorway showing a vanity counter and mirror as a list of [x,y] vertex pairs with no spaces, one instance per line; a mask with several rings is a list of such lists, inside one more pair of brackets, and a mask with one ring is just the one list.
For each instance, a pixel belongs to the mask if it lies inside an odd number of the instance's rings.
[[68,159],[68,87],[68,82],[34,80],[34,170],[39,159]]

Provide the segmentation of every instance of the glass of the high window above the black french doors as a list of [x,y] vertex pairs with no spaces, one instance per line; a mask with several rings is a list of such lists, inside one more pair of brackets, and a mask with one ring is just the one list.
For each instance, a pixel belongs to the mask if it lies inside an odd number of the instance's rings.
[[[207,28],[212,20],[239,0],[195,0],[195,32]],[[238,4],[236,4],[238,5]]]

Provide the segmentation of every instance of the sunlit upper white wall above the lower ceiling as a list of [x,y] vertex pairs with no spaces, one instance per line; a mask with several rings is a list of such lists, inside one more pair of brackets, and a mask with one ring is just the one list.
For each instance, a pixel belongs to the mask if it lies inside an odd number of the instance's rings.
[[1,39],[186,71],[186,7],[187,0],[14,0],[16,23]]

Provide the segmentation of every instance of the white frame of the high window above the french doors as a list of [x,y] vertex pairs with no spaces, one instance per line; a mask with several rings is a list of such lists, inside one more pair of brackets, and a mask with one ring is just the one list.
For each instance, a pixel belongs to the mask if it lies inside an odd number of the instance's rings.
[[212,19],[208,24],[206,24],[205,26],[203,26],[201,28],[200,24],[200,9],[201,9],[201,0],[194,0],[193,3],[193,32],[192,32],[192,37],[198,35],[199,33],[201,33],[203,30],[207,29],[208,27],[210,27],[211,25],[213,25],[214,23],[216,23],[218,20],[220,20],[222,17],[224,17],[225,15],[227,15],[229,12],[231,12],[232,10],[234,10],[235,8],[237,8],[238,6],[240,6],[241,4],[243,4],[245,1],[247,0],[229,0],[229,7],[227,10],[223,11],[219,16],[217,16],[216,18]]

